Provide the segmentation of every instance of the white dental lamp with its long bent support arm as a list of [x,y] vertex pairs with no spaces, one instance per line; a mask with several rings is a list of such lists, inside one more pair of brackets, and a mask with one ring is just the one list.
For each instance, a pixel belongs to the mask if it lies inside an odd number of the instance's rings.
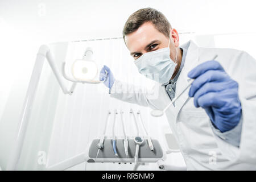
[[[42,73],[43,63],[45,59],[47,59],[57,79],[57,82],[59,82],[60,88],[64,94],[72,95],[76,88],[76,84],[79,82],[82,84],[100,84],[101,82],[99,80],[94,80],[97,76],[98,69],[95,61],[93,61],[92,48],[86,49],[83,59],[74,61],[72,65],[73,78],[69,78],[65,74],[65,63],[63,63],[61,75],[61,72],[57,68],[54,57],[49,47],[46,45],[41,46],[36,56],[36,61],[30,78],[30,83],[28,84],[26,97],[23,103],[22,112],[20,114],[18,122],[18,128],[14,141],[14,148],[11,151],[9,161],[7,163],[7,170],[15,170],[18,167],[19,158],[22,152],[24,138],[28,127],[28,121],[31,115],[31,108],[34,104],[35,94],[38,88],[38,82],[40,79],[40,75]],[[65,85],[65,80],[73,82],[70,89],[67,89]]]

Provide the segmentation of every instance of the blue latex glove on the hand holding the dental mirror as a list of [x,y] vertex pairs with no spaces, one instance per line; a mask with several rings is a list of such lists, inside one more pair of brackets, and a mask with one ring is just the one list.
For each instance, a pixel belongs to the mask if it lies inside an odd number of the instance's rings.
[[189,97],[194,105],[203,107],[213,125],[221,132],[233,129],[242,115],[238,97],[238,83],[224,71],[217,61],[206,61],[192,69],[188,77],[194,78]]

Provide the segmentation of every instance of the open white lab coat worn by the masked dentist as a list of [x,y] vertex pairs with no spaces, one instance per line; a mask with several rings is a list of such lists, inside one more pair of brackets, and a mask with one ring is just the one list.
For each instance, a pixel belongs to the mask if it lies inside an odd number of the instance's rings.
[[[188,72],[214,55],[218,55],[216,60],[239,84],[243,119],[240,148],[213,133],[204,109],[196,108],[193,98],[188,97],[189,89],[175,102],[175,106],[166,111],[168,123],[188,170],[256,170],[256,60],[253,57],[235,49],[199,48],[191,41],[176,83],[176,94],[187,86]],[[161,84],[158,91],[158,98],[151,100],[142,90],[116,80],[110,96],[152,109],[163,109],[171,100]]]

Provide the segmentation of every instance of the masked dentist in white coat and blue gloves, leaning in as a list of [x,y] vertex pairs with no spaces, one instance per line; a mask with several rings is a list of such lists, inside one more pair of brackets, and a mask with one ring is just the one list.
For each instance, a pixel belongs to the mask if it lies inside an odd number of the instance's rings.
[[188,170],[256,170],[253,57],[234,49],[199,48],[192,41],[180,46],[178,32],[151,8],[130,15],[123,39],[139,73],[158,80],[158,98],[115,80],[104,66],[100,80],[110,97],[163,110],[193,78],[191,88],[166,111]]

